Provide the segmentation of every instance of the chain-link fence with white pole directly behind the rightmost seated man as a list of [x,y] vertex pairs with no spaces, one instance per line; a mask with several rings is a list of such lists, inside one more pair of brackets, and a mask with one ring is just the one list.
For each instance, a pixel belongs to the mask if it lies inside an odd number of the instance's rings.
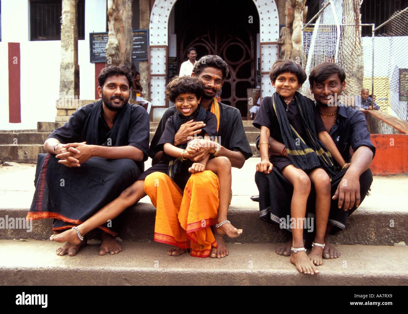
[[[315,22],[314,22],[315,21]],[[314,23],[312,23],[314,22]],[[363,46],[359,0],[326,1],[317,15],[303,27],[303,64],[306,74],[322,62],[336,62],[346,72],[347,83],[341,101],[355,105],[363,81]],[[308,82],[302,94],[313,98]]]

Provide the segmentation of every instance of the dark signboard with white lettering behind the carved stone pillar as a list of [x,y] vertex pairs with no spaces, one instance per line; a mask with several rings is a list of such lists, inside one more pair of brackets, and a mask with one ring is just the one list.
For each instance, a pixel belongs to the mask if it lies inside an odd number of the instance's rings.
[[[106,44],[108,43],[108,32],[89,33],[90,62],[106,62]],[[132,59],[148,59],[149,31],[138,29],[133,31]]]

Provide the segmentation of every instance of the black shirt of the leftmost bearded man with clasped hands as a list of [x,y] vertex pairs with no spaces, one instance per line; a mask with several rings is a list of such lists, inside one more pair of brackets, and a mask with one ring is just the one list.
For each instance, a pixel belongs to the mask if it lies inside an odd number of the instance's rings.
[[[60,128],[55,129],[48,138],[58,139],[62,144],[85,142],[82,131],[85,126],[86,119],[91,114],[91,111],[98,102],[87,104],[76,110]],[[140,149],[143,152],[143,161],[148,159],[149,149],[149,115],[142,106],[136,104],[127,104],[131,106],[129,119],[129,130],[127,131],[127,145]],[[118,114],[113,119],[115,124]],[[102,113],[98,119],[98,143],[87,143],[91,145],[103,145],[107,139],[111,137],[111,129],[106,124]],[[112,146],[115,144],[115,139],[111,139]]]

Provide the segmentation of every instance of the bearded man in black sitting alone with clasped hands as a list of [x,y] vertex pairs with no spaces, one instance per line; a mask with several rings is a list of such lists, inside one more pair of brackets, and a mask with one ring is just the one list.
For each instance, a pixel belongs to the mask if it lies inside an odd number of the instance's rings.
[[[53,218],[53,231],[73,229],[80,243],[64,243],[57,255],[75,255],[86,240],[77,226],[120,195],[144,170],[148,158],[149,115],[129,104],[130,69],[109,66],[100,72],[98,102],[76,110],[44,143],[38,155],[35,193],[27,219]],[[102,230],[100,255],[120,252],[119,223]]]

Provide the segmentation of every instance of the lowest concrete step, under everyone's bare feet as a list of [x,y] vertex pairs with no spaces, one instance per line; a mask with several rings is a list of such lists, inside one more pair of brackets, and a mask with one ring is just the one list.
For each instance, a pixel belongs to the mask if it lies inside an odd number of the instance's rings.
[[122,242],[122,252],[101,257],[98,244],[60,257],[60,243],[0,240],[0,285],[408,284],[407,247],[341,245],[340,258],[324,260],[320,273],[308,276],[275,254],[275,244],[229,245],[223,259],[170,257],[169,245],[135,242]]

